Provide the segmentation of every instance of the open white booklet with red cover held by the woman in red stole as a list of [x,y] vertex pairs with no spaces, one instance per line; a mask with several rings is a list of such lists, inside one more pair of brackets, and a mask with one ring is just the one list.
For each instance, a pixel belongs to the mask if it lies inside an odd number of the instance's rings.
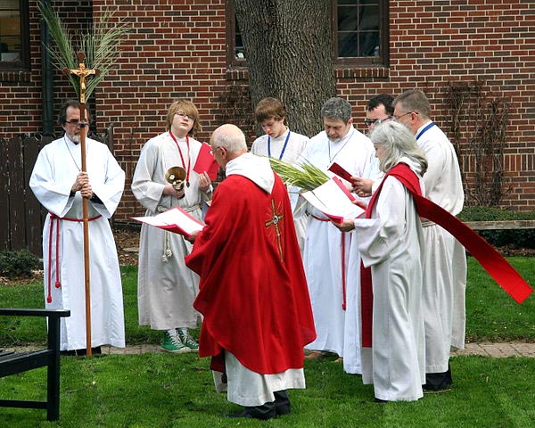
[[364,212],[352,203],[355,197],[338,177],[331,178],[314,190],[301,193],[301,196],[336,223],[342,223],[344,218],[357,218]]

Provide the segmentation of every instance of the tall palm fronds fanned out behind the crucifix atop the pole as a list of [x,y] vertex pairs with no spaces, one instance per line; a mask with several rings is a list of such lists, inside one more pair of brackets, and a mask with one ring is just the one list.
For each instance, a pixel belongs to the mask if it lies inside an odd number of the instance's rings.
[[[54,67],[62,71],[78,69],[77,53],[83,52],[86,55],[86,69],[99,70],[99,73],[86,83],[86,98],[89,98],[119,59],[118,47],[130,31],[130,24],[124,20],[114,20],[115,12],[108,10],[99,20],[95,20],[93,29],[73,37],[50,4],[39,0],[37,6],[53,38],[53,45],[45,45],[45,49],[50,53]],[[73,40],[77,45],[73,46]],[[79,79],[72,74],[68,74],[68,78],[79,98]]]

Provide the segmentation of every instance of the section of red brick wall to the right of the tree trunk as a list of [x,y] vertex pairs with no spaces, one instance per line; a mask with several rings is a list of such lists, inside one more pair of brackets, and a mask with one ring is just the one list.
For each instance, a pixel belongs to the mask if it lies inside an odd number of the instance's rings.
[[[338,88],[361,114],[370,95],[418,87],[432,101],[433,119],[452,138],[446,101],[453,85],[479,82],[484,98],[461,116],[467,127],[473,110],[503,98],[510,103],[504,166],[503,208],[535,207],[535,11],[529,0],[390,2],[391,67],[353,70],[339,78]],[[337,70],[344,76],[347,70]],[[364,127],[360,127],[364,129]],[[467,133],[461,155],[469,152]],[[473,161],[466,159],[465,177],[473,179]],[[472,167],[471,167],[472,165]]]

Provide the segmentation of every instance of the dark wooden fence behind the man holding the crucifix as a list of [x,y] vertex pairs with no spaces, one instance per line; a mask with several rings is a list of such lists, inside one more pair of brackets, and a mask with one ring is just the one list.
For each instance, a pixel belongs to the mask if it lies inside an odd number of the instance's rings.
[[[113,125],[92,138],[112,151]],[[46,211],[29,187],[37,154],[54,136],[0,137],[0,251],[28,249],[42,257],[42,229]]]

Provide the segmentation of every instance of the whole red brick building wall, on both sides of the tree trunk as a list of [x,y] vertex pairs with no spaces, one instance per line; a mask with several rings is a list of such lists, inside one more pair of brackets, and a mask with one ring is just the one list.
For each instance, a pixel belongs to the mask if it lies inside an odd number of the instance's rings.
[[[31,2],[33,4],[33,2]],[[122,45],[119,70],[95,91],[97,130],[115,123],[115,154],[127,172],[127,191],[118,219],[142,212],[129,191],[130,179],[144,142],[165,129],[169,104],[191,99],[201,111],[202,133],[228,120],[254,136],[247,72],[226,66],[224,0],[93,0],[54,1],[62,16],[88,22],[106,6],[134,24]],[[389,69],[335,70],[339,94],[354,105],[355,121],[364,130],[366,100],[378,93],[393,95],[419,87],[432,101],[435,121],[449,136],[451,111],[448,88],[480,85],[483,99],[462,111],[459,118],[469,131],[473,109],[502,97],[510,103],[506,136],[506,193],[502,207],[535,210],[535,20],[528,0],[400,0],[390,2]],[[61,8],[58,7],[61,5]],[[74,11],[78,14],[74,14]],[[80,13],[81,12],[81,13]],[[37,8],[32,16],[32,72],[6,78],[0,73],[0,135],[39,132],[41,128],[40,38]],[[77,22],[72,21],[75,25]],[[69,94],[60,73],[54,74],[55,111]],[[17,80],[18,79],[18,80]],[[474,107],[475,106],[475,107]],[[460,135],[459,151],[465,177],[473,180],[468,157],[469,132]]]

